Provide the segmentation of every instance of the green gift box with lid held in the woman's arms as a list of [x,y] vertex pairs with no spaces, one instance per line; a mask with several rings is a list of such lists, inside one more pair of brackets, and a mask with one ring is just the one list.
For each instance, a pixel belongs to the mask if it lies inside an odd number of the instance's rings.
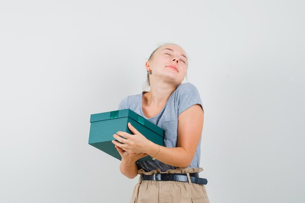
[[[133,134],[127,126],[129,122],[148,140],[163,146],[164,130],[130,109],[91,114],[89,145],[121,160],[121,155],[112,143],[112,140],[116,140],[113,135],[117,131]],[[138,161],[148,160],[152,160],[152,157],[142,157]]]

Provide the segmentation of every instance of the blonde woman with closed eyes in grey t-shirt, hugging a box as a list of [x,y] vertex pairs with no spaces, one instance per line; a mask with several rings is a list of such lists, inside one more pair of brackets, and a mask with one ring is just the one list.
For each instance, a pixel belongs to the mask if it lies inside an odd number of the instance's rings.
[[[165,130],[164,146],[146,139],[130,123],[133,132],[118,131],[113,141],[122,161],[120,171],[133,179],[131,203],[209,203],[205,184],[199,178],[200,143],[204,111],[199,92],[182,83],[188,58],[176,44],[164,44],[145,64],[150,92],[125,97],[118,109],[131,109]],[[124,138],[122,138],[123,136]],[[152,161],[137,160],[152,156]]]

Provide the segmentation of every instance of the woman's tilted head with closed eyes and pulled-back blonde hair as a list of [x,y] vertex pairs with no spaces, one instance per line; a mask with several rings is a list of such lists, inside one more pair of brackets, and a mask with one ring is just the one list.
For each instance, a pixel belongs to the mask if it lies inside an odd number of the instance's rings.
[[167,44],[153,54],[152,60],[146,62],[146,69],[151,70],[150,82],[163,79],[174,85],[180,84],[187,73],[188,59],[184,50],[175,45]]

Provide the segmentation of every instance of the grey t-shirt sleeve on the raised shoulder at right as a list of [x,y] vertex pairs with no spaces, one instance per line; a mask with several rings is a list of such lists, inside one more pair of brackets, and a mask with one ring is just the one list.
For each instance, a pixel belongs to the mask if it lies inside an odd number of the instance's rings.
[[202,111],[203,106],[197,88],[191,83],[185,83],[178,93],[178,115],[195,104],[200,104]]

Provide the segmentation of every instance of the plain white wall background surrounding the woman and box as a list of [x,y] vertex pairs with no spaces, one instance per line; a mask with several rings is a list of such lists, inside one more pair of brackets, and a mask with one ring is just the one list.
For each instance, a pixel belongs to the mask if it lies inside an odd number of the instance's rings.
[[210,203],[304,203],[305,2],[0,1],[0,203],[128,203],[88,145],[163,42],[190,58]]

